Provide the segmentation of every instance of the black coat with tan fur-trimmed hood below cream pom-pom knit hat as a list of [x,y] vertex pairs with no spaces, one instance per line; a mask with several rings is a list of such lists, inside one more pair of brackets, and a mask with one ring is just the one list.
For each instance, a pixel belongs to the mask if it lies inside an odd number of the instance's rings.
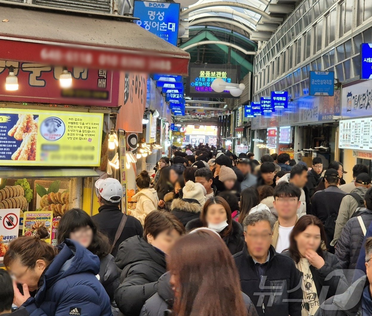
[[174,199],[171,204],[171,213],[175,215],[183,226],[200,217],[202,206],[194,199]]

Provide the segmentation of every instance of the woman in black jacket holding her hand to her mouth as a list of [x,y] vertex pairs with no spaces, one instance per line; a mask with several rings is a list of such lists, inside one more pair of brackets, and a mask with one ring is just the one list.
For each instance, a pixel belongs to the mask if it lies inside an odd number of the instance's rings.
[[[312,316],[324,300],[347,289],[346,278],[341,275],[341,265],[336,255],[324,251],[327,243],[324,225],[314,215],[302,216],[289,236],[289,255],[302,274],[302,315]],[[337,275],[328,277],[334,270]],[[328,287],[327,295],[320,295],[323,287]]]

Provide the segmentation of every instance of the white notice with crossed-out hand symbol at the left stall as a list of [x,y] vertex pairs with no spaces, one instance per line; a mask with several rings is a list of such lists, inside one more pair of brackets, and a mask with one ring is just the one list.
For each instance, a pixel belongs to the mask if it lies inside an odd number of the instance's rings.
[[19,208],[0,209],[0,261],[9,248],[10,242],[18,237]]

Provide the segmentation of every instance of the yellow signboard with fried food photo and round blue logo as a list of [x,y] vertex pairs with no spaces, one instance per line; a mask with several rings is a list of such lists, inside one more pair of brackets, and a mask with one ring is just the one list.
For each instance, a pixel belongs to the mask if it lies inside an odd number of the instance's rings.
[[1,166],[99,166],[103,114],[3,108]]

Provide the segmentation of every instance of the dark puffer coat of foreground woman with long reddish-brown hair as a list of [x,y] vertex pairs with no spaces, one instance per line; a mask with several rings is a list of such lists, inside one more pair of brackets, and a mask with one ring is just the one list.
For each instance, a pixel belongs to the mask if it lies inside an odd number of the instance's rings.
[[[164,311],[172,309],[174,293],[169,283],[170,273],[167,272],[159,278],[158,292],[150,297],[142,307],[140,316],[164,316]],[[250,298],[241,293],[249,316],[258,316]]]

